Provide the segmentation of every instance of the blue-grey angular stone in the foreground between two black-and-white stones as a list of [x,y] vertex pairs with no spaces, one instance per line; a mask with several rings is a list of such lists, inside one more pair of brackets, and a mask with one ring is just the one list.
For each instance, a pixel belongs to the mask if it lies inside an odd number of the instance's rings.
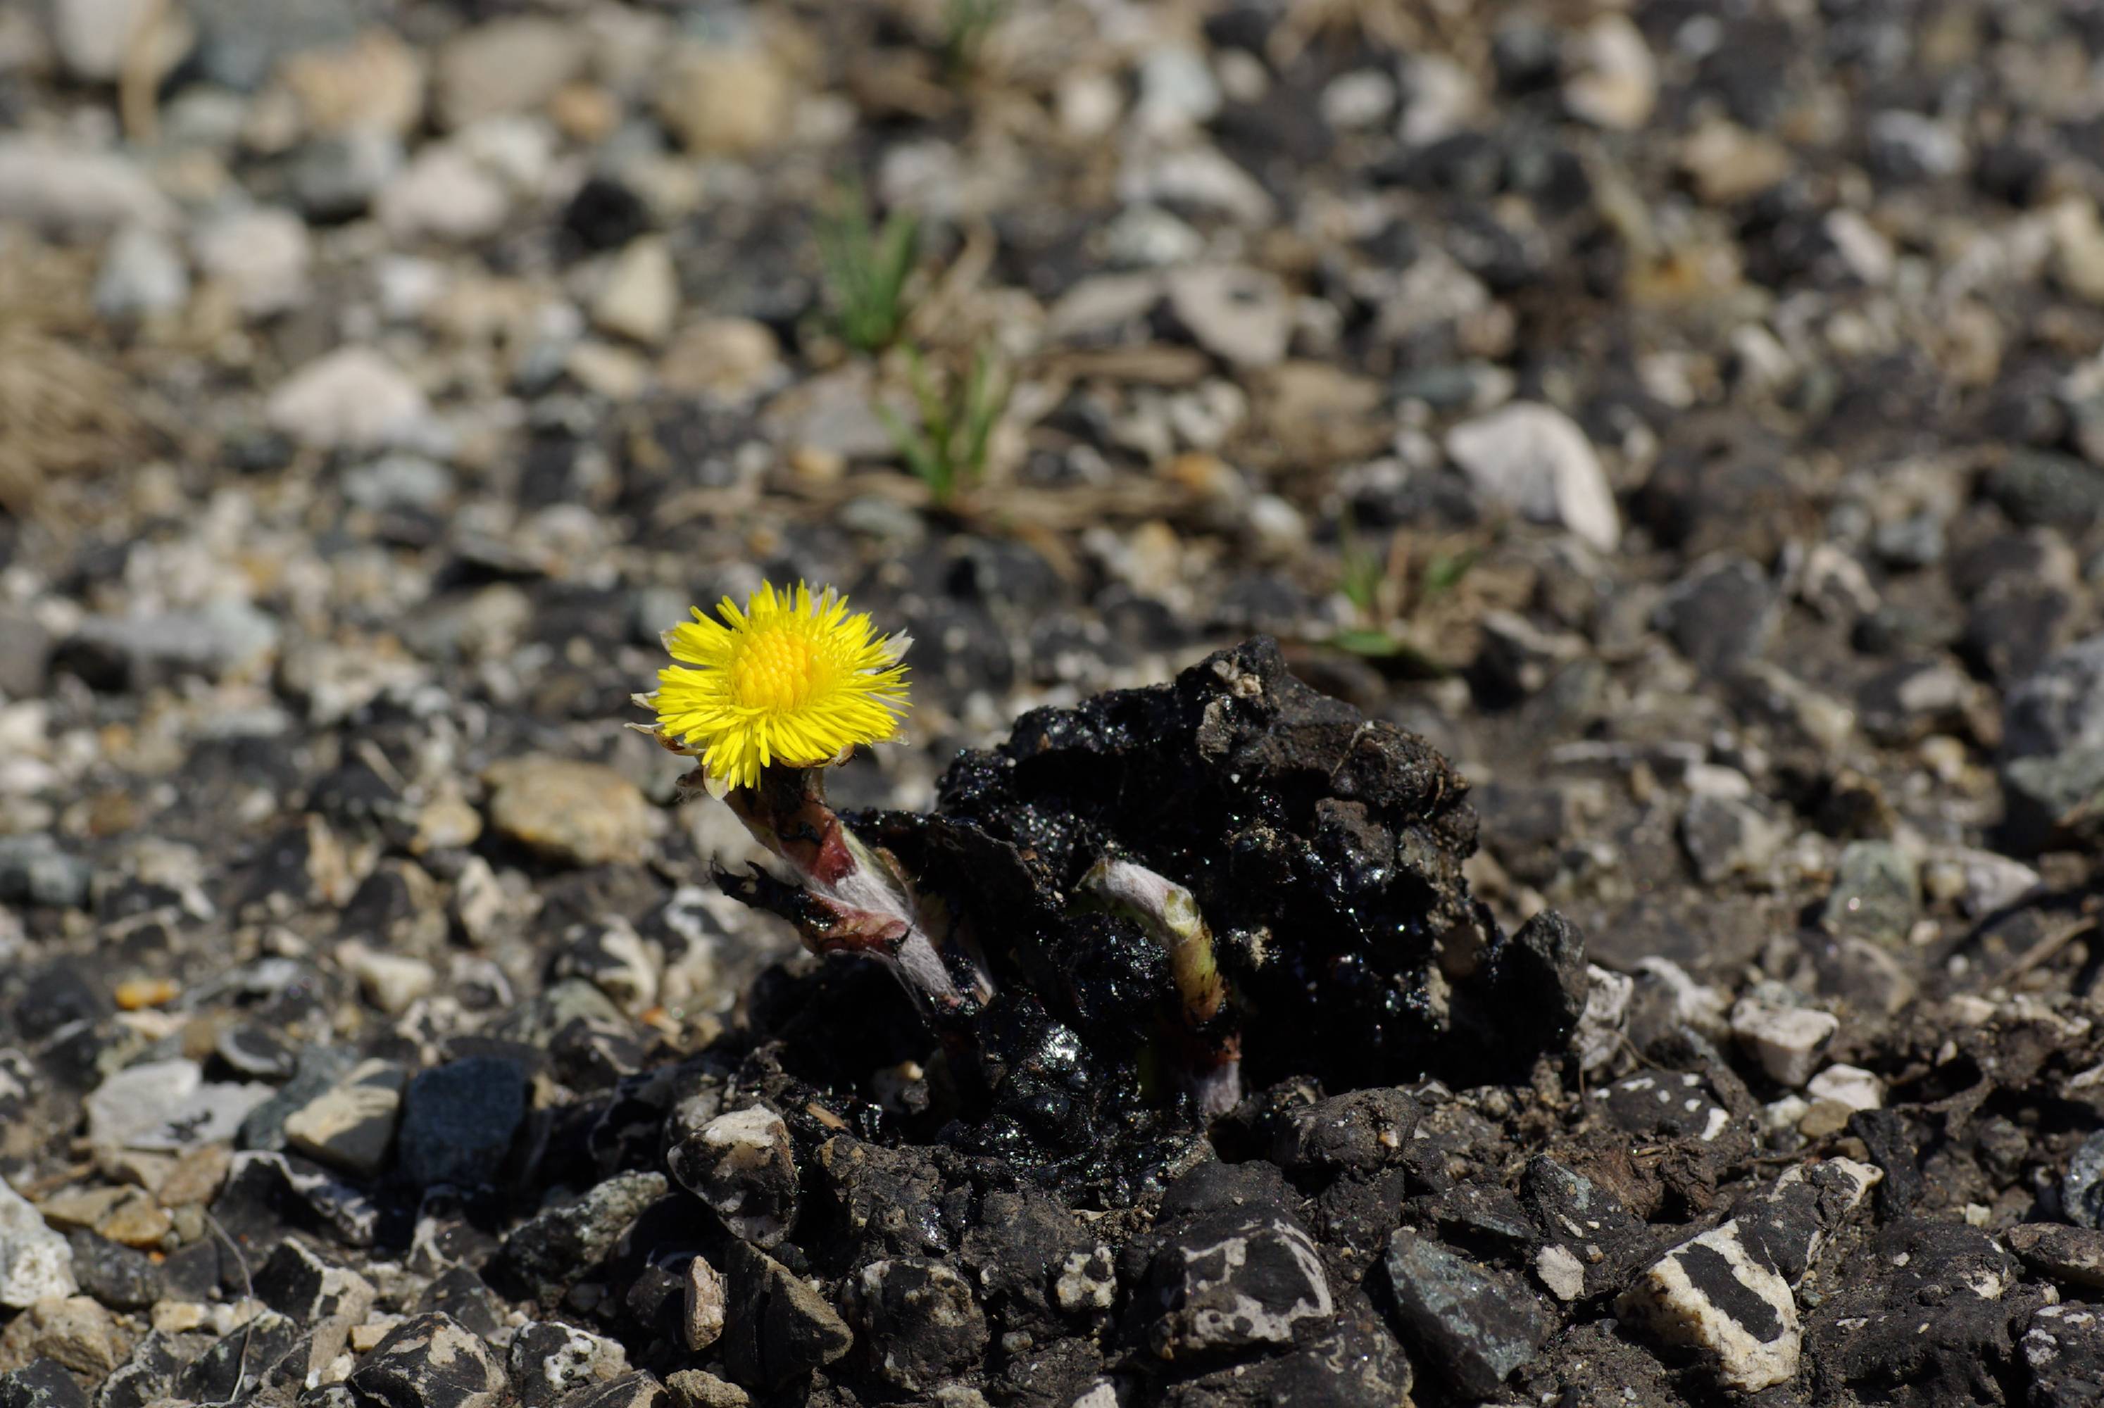
[[1462,1393],[1496,1393],[1557,1328],[1534,1292],[1408,1227],[1389,1238],[1387,1269],[1403,1341]]

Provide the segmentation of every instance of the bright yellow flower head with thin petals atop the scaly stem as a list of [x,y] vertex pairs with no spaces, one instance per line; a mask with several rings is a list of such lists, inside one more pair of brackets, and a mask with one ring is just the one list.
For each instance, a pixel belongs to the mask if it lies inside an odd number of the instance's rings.
[[656,735],[701,758],[709,791],[751,787],[760,768],[816,768],[856,743],[898,730],[907,709],[905,636],[877,636],[869,612],[827,587],[812,598],[762,585],[739,610],[726,596],[722,621],[694,619],[665,631],[673,665],[654,695]]

